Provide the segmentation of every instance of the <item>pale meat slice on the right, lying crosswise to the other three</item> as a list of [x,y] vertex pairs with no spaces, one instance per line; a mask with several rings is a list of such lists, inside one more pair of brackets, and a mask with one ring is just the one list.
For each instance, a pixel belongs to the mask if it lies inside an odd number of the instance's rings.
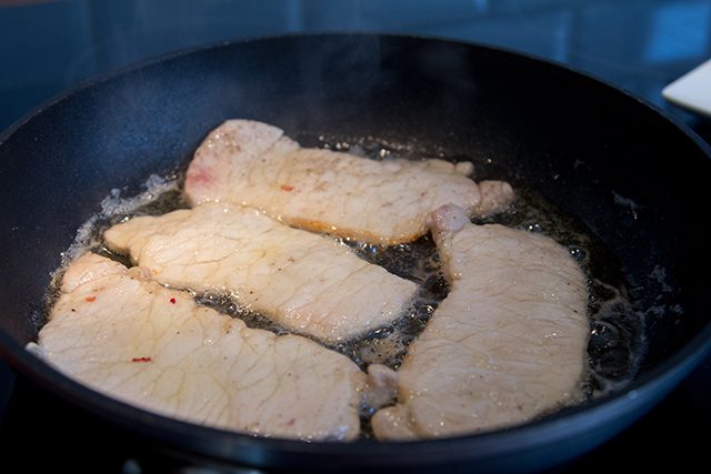
[[553,240],[432,215],[449,295],[398,371],[398,404],[372,418],[380,440],[510,426],[581,396],[585,278]]

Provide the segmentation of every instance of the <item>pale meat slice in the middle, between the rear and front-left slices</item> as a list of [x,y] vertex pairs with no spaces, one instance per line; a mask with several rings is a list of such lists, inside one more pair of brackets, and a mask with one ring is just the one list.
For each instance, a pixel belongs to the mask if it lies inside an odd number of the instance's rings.
[[230,292],[244,307],[327,342],[389,323],[417,291],[348,245],[250,208],[207,202],[134,218],[104,239],[161,283]]

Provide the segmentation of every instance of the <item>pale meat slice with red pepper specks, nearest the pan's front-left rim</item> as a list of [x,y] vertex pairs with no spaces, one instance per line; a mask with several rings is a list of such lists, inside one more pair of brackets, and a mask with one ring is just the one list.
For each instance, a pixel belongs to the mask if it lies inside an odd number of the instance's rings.
[[188,422],[262,436],[358,436],[365,375],[297,335],[248,329],[96,254],[76,260],[40,352],[90,387]]

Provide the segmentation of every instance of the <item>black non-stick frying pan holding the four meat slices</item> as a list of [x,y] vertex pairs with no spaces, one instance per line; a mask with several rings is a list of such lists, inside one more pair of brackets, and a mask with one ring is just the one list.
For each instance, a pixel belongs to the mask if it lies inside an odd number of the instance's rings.
[[[510,430],[413,443],[307,444],[146,413],[26,352],[50,273],[98,203],[113,188],[128,195],[151,173],[184,168],[207,131],[228,118],[277,124],[304,144],[319,135],[373,135],[430,154],[491,159],[484,173],[535,190],[611,250],[647,322],[635,380]],[[310,472],[551,466],[635,421],[709,352],[711,265],[700,231],[711,203],[709,157],[700,140],[619,90],[457,42],[287,37],[149,62],[88,83],[0,137],[1,353],[33,383],[188,460]]]

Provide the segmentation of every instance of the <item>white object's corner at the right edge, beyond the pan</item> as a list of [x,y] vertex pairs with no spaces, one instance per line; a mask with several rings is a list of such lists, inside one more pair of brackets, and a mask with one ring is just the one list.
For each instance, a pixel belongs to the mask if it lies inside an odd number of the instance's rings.
[[711,59],[662,90],[668,101],[711,117]]

